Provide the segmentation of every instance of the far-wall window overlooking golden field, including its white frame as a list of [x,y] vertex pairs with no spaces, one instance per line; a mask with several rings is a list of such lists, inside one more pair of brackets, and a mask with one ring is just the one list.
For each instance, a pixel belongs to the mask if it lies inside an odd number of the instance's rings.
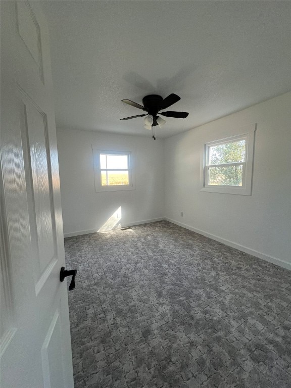
[[132,190],[132,154],[93,149],[95,191]]

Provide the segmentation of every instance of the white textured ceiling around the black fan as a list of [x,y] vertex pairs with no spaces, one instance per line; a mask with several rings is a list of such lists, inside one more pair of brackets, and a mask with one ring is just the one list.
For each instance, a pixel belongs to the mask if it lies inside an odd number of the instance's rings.
[[[147,94],[181,100],[168,137],[291,90],[289,1],[41,1],[58,127],[149,136]],[[157,127],[158,128],[158,127]]]

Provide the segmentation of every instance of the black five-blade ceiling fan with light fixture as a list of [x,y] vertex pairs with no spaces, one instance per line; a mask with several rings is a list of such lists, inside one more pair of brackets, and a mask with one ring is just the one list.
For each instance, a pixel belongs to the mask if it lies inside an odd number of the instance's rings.
[[[134,119],[135,117],[147,116],[144,119],[144,128],[152,129],[157,125],[161,127],[163,124],[166,123],[166,120],[164,120],[162,117],[158,115],[185,119],[189,114],[187,112],[174,112],[174,111],[159,112],[161,110],[167,109],[168,107],[175,104],[179,100],[181,100],[181,98],[174,93],[168,95],[168,97],[166,97],[165,99],[163,99],[160,95],[157,95],[157,94],[146,95],[142,99],[143,106],[131,100],[122,100],[122,102],[124,102],[125,104],[131,105],[135,108],[142,109],[147,113],[143,115],[125,117],[120,120],[130,120],[130,119]],[[154,136],[154,133],[153,133],[153,138],[156,139],[156,135]]]

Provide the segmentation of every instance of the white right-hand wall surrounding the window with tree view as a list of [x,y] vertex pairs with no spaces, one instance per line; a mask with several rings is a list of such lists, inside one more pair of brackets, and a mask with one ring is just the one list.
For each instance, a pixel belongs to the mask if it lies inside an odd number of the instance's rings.
[[[200,191],[203,144],[255,123],[252,196]],[[291,93],[166,139],[165,216],[291,269]]]

